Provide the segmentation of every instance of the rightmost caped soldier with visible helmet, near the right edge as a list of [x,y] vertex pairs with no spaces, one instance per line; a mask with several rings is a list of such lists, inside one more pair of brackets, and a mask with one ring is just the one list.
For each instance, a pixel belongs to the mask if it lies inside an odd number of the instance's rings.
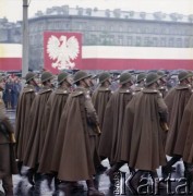
[[[162,168],[164,175],[168,175],[171,172],[171,167],[181,159],[184,148],[184,138],[186,136],[186,130],[181,130],[183,112],[185,106],[192,95],[192,89],[189,78],[192,76],[186,71],[179,73],[180,84],[171,89],[165,97],[166,105],[169,109],[169,128],[166,142],[166,155],[172,157],[167,166]],[[184,164],[186,173],[186,164]]]

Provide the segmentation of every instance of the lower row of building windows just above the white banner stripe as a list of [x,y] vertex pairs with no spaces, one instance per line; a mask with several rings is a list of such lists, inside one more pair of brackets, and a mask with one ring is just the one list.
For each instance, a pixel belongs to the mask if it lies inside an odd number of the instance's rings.
[[[29,37],[31,46],[43,47],[43,34]],[[193,37],[146,37],[146,36],[122,36],[109,34],[83,34],[83,45],[107,45],[107,46],[144,46],[144,47],[193,47]]]

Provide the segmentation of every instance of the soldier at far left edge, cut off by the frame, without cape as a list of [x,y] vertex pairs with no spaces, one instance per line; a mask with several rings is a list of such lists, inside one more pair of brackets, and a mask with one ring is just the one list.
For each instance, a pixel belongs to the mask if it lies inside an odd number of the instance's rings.
[[[4,82],[0,76],[0,91],[4,89]],[[5,114],[5,107],[0,98],[0,180],[7,196],[13,196],[12,174],[16,174],[16,162],[13,151],[15,144],[14,131]]]

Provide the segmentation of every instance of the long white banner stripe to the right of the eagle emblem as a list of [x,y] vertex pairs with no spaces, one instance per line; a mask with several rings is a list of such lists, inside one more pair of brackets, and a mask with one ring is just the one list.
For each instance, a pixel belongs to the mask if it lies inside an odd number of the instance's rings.
[[86,46],[82,52],[83,59],[193,59],[193,48]]

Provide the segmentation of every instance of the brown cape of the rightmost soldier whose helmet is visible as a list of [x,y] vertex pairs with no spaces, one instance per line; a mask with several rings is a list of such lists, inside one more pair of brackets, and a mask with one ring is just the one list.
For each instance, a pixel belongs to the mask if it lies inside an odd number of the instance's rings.
[[[168,156],[181,155],[180,151],[183,150],[184,146],[182,146],[181,143],[177,143],[177,140],[180,133],[183,111],[191,95],[192,90],[189,85],[179,85],[171,89],[165,97],[165,102],[169,111],[169,132],[166,140],[166,154]],[[183,131],[182,135],[183,137],[185,136],[185,131]]]

